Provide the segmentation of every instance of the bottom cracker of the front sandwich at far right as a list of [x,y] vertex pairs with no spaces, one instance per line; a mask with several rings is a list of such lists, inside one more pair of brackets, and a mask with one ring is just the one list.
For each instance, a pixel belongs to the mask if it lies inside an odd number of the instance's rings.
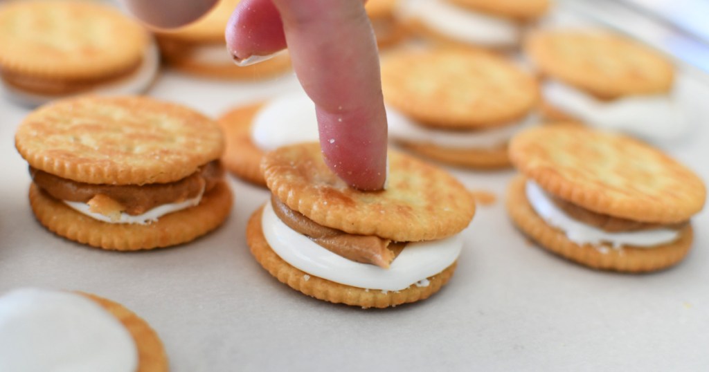
[[693,232],[687,224],[676,242],[654,248],[621,247],[608,244],[593,247],[571,242],[561,230],[547,225],[532,209],[525,192],[524,176],[510,183],[507,193],[507,210],[515,225],[544,249],[559,254],[576,263],[593,269],[640,273],[666,269],[681,261],[691,248]]

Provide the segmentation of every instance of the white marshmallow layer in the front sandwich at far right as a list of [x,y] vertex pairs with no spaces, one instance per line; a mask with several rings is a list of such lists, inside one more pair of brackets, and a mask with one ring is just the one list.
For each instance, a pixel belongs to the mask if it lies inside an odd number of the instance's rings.
[[614,248],[629,245],[636,248],[653,248],[679,239],[679,230],[664,228],[631,232],[607,232],[571,218],[564,210],[557,207],[549,199],[545,191],[534,181],[527,181],[525,189],[527,200],[537,215],[540,215],[552,227],[562,230],[571,242],[579,245],[591,244],[600,246],[603,243],[609,243]]

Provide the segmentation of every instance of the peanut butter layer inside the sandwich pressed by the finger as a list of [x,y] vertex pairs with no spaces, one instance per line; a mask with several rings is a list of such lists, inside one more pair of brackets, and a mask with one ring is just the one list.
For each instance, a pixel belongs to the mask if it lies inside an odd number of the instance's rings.
[[273,210],[288,227],[309,237],[313,242],[350,261],[389,269],[406,242],[391,242],[376,236],[352,235],[316,222],[271,196]]

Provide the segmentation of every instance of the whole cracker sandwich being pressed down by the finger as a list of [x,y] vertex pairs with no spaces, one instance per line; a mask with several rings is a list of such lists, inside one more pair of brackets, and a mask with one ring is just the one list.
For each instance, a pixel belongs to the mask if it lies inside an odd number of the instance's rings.
[[264,157],[272,198],[252,215],[247,242],[269,273],[332,303],[386,308],[423,300],[453,274],[470,193],[441,169],[389,154],[384,191],[337,178],[315,143]]

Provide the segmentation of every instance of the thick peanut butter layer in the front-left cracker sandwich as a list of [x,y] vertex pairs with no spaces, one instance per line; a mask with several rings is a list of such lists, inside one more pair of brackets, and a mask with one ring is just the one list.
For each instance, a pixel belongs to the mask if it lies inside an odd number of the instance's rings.
[[[128,215],[141,215],[158,205],[177,203],[195,198],[202,191],[205,193],[210,191],[223,178],[224,169],[220,162],[214,161],[203,165],[199,171],[179,181],[143,186],[85,184],[62,179],[31,167],[30,174],[35,184],[53,198],[62,201],[93,202],[96,205],[91,205],[91,207],[97,209],[101,209],[103,205],[116,205],[115,203],[105,203],[105,199],[110,198],[121,206],[121,212]],[[97,196],[99,197],[96,198]],[[110,210],[105,210],[106,213],[115,210],[113,207],[108,209]],[[106,214],[99,210],[96,212]]]

